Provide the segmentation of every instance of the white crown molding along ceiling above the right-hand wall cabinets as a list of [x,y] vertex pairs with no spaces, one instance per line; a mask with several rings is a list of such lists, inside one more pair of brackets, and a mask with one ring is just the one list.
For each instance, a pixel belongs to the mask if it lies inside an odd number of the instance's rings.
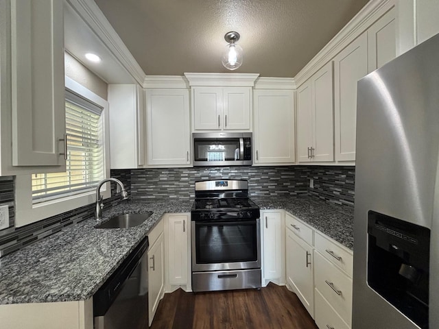
[[396,6],[398,0],[371,0],[366,6],[351,19],[326,46],[318,52],[305,67],[297,73],[294,80],[299,87],[307,81],[320,67],[332,60],[337,53],[342,51],[349,43],[365,32],[370,25],[375,23],[383,14]]

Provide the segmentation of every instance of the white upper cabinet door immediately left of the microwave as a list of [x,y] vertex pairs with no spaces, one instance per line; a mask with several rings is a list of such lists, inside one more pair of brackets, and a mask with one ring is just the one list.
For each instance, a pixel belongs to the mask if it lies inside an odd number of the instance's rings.
[[189,91],[146,90],[147,164],[189,164]]

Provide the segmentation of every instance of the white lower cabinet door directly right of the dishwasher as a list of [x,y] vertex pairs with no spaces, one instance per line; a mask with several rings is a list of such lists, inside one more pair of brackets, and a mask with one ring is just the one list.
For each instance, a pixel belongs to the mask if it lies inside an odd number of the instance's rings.
[[154,244],[148,249],[148,307],[150,308],[150,326],[165,288],[164,255],[163,232],[161,232]]

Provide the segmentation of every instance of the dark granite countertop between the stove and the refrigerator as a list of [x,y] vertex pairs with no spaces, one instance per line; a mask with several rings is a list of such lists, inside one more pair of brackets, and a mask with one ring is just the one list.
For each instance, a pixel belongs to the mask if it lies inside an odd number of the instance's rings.
[[354,209],[316,197],[252,197],[261,210],[284,209],[316,230],[353,249]]

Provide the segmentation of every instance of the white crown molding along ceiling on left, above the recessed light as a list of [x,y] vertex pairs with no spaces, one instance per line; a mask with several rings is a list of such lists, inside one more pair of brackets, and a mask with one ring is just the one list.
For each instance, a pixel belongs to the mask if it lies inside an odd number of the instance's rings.
[[93,0],[65,0],[77,12],[81,19],[90,27],[97,38],[101,40],[108,51],[115,56],[117,62],[140,85],[143,85],[145,73],[123,43],[115,29],[110,25],[102,11]]

